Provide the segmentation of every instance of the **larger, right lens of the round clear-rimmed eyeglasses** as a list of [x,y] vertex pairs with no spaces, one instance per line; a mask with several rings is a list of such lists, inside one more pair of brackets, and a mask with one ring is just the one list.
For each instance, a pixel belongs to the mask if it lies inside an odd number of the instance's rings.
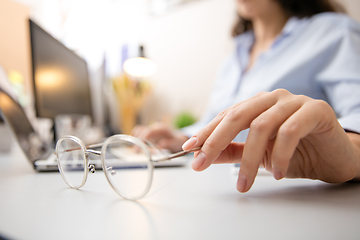
[[111,186],[120,196],[133,200],[148,192],[152,179],[149,151],[137,141],[117,135],[109,138],[102,149],[103,168]]

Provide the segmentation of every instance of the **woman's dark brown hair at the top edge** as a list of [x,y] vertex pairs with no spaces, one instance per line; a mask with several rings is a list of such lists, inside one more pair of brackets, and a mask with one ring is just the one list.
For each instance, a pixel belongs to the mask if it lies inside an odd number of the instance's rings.
[[[299,18],[311,17],[322,12],[346,12],[344,7],[332,0],[274,0],[286,11],[289,16]],[[232,36],[237,36],[252,29],[252,22],[240,16],[232,30]]]

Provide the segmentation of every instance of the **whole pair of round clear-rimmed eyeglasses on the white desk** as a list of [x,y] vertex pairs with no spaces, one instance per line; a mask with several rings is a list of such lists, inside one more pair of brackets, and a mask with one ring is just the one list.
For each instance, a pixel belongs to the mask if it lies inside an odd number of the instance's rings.
[[[101,151],[96,150],[100,147]],[[167,155],[148,141],[118,134],[89,146],[75,136],[66,136],[57,141],[55,154],[61,176],[71,188],[83,187],[88,172],[95,173],[95,166],[89,163],[89,155],[95,154],[101,156],[105,177],[115,192],[125,199],[137,200],[150,190],[154,163],[198,150]]]

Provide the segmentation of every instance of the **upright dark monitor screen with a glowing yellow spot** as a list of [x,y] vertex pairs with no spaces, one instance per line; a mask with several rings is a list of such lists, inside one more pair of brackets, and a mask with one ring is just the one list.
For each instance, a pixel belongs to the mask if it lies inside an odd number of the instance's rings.
[[37,116],[92,116],[86,61],[31,20],[30,36]]

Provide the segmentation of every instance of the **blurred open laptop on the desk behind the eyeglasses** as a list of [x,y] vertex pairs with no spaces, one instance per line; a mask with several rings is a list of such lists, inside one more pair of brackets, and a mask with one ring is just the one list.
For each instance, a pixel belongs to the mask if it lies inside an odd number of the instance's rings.
[[[27,160],[33,165],[36,171],[58,171],[56,155],[52,142],[43,142],[40,136],[32,127],[24,109],[19,103],[0,88],[0,113],[6,124],[19,143]],[[89,156],[92,156],[90,154]],[[177,167],[189,162],[186,156],[164,162],[154,162],[155,167]],[[93,164],[96,169],[101,169],[100,156],[94,156],[89,164]],[[118,168],[131,167],[128,162],[118,163]],[[136,166],[134,166],[136,167]]]

